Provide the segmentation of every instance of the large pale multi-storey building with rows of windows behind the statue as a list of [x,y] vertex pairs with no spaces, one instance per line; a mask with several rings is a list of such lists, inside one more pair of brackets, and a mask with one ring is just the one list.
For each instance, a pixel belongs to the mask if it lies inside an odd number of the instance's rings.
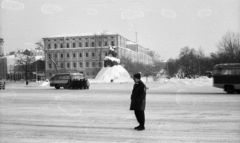
[[[86,77],[96,76],[108,55],[109,46],[115,46],[117,58],[129,58],[133,62],[152,64],[152,58],[143,46],[115,33],[64,35],[43,38],[45,49],[46,77],[56,73],[82,72]],[[132,48],[133,47],[133,48]]]

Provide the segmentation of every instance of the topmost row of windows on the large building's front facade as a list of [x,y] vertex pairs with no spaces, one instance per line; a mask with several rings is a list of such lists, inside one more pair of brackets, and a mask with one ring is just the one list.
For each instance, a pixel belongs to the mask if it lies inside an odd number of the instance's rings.
[[[91,47],[95,47],[95,42],[91,42],[91,43],[85,42],[85,47],[89,47],[90,44],[91,44]],[[114,41],[111,41],[111,45],[112,45],[112,46],[115,46]],[[105,41],[105,42],[104,42],[104,45],[102,45],[102,42],[98,42],[98,46],[109,46],[109,45],[108,45],[108,41]],[[66,47],[67,47],[67,48],[70,48],[70,43],[66,43]],[[72,47],[73,47],[73,48],[77,47],[77,43],[72,43]],[[83,47],[83,44],[82,44],[82,43],[78,43],[78,47]],[[48,44],[48,48],[49,48],[49,49],[52,48],[52,47],[51,47],[51,44]],[[54,44],[54,48],[55,48],[55,49],[58,48],[57,44]],[[63,48],[63,43],[60,43],[60,48]]]

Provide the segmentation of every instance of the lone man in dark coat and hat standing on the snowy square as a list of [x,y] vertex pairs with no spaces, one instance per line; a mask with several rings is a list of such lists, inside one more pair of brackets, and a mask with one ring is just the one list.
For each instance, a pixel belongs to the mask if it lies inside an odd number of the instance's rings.
[[141,81],[141,74],[137,73],[133,76],[135,82],[132,95],[131,95],[131,106],[130,110],[134,110],[139,126],[134,129],[141,131],[145,129],[145,106],[146,106],[146,86]]

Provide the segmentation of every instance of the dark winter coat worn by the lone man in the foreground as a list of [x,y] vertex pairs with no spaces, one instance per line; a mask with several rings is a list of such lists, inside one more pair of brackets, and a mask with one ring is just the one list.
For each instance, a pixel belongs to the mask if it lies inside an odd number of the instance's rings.
[[130,110],[145,110],[146,106],[146,86],[142,81],[134,84]]

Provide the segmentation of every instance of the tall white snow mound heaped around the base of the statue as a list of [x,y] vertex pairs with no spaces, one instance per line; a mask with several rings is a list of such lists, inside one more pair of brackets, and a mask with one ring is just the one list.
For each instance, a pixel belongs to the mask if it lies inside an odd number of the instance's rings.
[[97,83],[107,83],[107,82],[130,82],[132,81],[129,73],[121,65],[116,65],[113,67],[103,67],[95,77]]

